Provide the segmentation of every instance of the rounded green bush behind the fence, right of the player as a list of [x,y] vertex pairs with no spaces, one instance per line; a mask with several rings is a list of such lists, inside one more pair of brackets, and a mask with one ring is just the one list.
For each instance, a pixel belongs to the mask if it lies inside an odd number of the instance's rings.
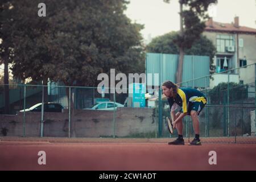
[[[221,82],[214,86],[209,92],[210,101],[212,104],[225,104],[228,96],[228,83]],[[246,85],[237,84],[235,82],[229,83],[229,101],[237,101],[247,98]]]

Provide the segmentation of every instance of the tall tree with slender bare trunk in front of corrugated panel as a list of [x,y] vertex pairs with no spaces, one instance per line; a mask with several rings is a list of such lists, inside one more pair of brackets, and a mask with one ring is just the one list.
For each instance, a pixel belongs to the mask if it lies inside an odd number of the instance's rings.
[[[163,0],[169,3],[170,0]],[[184,49],[191,48],[193,42],[199,39],[205,28],[205,19],[209,18],[207,9],[210,3],[217,0],[179,0],[180,3],[180,34],[174,42],[179,47],[179,64],[176,82],[182,82]],[[185,10],[183,9],[185,7]]]

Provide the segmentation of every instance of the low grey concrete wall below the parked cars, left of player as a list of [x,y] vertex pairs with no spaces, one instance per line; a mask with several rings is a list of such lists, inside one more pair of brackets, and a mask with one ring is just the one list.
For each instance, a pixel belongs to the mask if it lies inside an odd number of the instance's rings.
[[[156,130],[151,108],[118,108],[115,111],[115,136],[152,133]],[[110,137],[114,134],[114,112],[75,110],[72,122],[76,137]],[[41,113],[26,113],[26,137],[40,137]],[[68,111],[44,114],[44,137],[68,137]],[[0,136],[23,136],[23,114],[0,115]]]

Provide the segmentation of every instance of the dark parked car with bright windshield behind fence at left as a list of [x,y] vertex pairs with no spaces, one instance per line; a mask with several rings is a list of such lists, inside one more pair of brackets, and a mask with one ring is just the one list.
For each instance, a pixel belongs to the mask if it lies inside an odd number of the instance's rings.
[[[47,102],[44,103],[44,112],[56,112],[61,113],[64,107],[58,103]],[[38,103],[25,111],[33,111],[33,112],[40,112],[42,110],[42,103]],[[20,110],[20,112],[24,112],[24,110]]]

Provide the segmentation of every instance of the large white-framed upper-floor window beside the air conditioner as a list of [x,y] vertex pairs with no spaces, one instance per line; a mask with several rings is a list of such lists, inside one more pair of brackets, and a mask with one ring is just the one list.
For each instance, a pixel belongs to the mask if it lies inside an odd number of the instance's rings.
[[226,47],[234,46],[233,35],[217,35],[217,52],[226,52]]

